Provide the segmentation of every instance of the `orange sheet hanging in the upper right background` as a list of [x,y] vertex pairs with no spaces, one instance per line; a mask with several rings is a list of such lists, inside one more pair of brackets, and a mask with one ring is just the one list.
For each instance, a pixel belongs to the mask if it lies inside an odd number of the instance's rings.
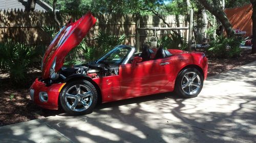
[[239,28],[239,30],[241,31],[246,31],[245,36],[252,35],[251,5],[245,5],[243,7],[232,9],[225,9],[224,11],[234,30]]

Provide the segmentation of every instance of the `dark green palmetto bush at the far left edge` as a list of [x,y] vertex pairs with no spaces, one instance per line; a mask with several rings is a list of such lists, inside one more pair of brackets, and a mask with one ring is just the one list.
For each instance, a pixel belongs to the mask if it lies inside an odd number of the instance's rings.
[[11,40],[0,43],[0,68],[8,72],[13,82],[26,80],[27,70],[37,53],[34,47]]

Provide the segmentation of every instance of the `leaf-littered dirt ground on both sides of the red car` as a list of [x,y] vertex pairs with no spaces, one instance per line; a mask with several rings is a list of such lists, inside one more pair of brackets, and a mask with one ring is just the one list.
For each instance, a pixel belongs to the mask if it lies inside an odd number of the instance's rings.
[[[209,59],[208,76],[255,61],[256,54],[250,54],[250,51],[243,49],[241,56],[236,59]],[[0,126],[54,116],[63,112],[42,109],[33,104],[29,96],[29,85],[40,76],[40,72],[37,70],[31,75],[26,85],[13,85],[7,74],[0,72]]]

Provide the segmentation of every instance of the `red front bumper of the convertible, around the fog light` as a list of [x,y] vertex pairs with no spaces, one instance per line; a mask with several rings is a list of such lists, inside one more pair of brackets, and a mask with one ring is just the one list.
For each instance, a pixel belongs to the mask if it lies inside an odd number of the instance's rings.
[[[30,88],[30,97],[36,105],[42,108],[57,110],[59,93],[64,85],[65,83],[54,83],[49,87],[46,87],[46,83],[41,82],[38,80],[38,78],[36,78]],[[45,92],[48,94],[47,101],[41,101],[39,99],[40,92]]]

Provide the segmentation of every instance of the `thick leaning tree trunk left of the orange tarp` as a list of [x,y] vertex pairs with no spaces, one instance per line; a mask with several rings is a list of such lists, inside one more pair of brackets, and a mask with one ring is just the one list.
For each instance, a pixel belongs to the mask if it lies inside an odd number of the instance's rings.
[[[206,10],[208,10],[212,15],[216,16],[218,20],[222,23],[225,28],[225,31],[229,37],[234,36],[234,30],[230,24],[225,12],[217,5],[212,5],[205,0],[198,0]],[[216,2],[216,0],[214,0]]]

